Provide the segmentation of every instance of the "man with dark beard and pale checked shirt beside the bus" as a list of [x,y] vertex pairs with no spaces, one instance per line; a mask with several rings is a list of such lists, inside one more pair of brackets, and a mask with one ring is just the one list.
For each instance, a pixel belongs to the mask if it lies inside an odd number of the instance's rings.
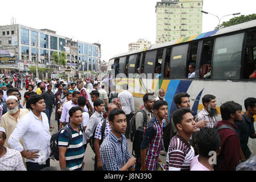
[[199,114],[196,115],[195,121],[208,121],[206,122],[206,127],[213,128],[214,124],[216,123],[216,116],[218,115],[218,111],[216,109],[216,97],[210,94],[205,95],[202,98],[202,102],[204,105],[204,108],[202,111],[200,111]]

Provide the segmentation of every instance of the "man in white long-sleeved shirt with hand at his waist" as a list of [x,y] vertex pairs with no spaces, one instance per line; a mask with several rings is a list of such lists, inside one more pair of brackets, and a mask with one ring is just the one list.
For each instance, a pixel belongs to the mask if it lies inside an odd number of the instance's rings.
[[[50,139],[48,118],[43,111],[46,102],[43,95],[32,95],[29,99],[31,111],[24,115],[10,135],[8,145],[18,150],[25,158],[27,171],[40,171],[49,167]],[[23,144],[20,144],[20,138]]]

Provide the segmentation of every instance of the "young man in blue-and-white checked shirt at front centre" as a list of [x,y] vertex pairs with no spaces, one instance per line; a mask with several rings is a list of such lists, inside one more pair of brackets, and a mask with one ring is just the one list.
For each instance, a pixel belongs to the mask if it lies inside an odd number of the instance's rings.
[[136,158],[131,158],[125,135],[127,128],[126,114],[121,109],[109,112],[111,131],[100,147],[104,171],[134,171]]

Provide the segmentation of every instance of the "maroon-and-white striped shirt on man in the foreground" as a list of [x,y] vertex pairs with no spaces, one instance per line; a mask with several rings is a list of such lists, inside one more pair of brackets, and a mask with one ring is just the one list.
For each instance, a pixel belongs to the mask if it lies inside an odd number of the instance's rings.
[[191,144],[176,134],[172,137],[168,148],[166,170],[189,171],[194,156],[195,151]]

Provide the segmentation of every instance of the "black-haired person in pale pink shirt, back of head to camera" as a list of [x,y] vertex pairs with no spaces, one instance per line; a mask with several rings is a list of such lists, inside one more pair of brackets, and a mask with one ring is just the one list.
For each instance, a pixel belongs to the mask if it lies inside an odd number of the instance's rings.
[[199,155],[193,158],[190,171],[213,171],[214,162],[220,154],[220,135],[215,129],[205,127],[197,131],[196,141]]

